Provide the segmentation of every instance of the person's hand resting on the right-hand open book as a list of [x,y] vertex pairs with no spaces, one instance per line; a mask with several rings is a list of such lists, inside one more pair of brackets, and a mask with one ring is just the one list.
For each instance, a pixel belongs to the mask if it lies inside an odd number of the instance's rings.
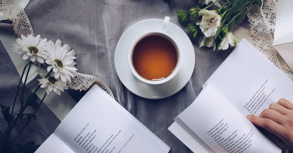
[[281,98],[277,103],[271,103],[259,117],[247,115],[247,118],[259,127],[280,148],[293,150],[293,104]]

